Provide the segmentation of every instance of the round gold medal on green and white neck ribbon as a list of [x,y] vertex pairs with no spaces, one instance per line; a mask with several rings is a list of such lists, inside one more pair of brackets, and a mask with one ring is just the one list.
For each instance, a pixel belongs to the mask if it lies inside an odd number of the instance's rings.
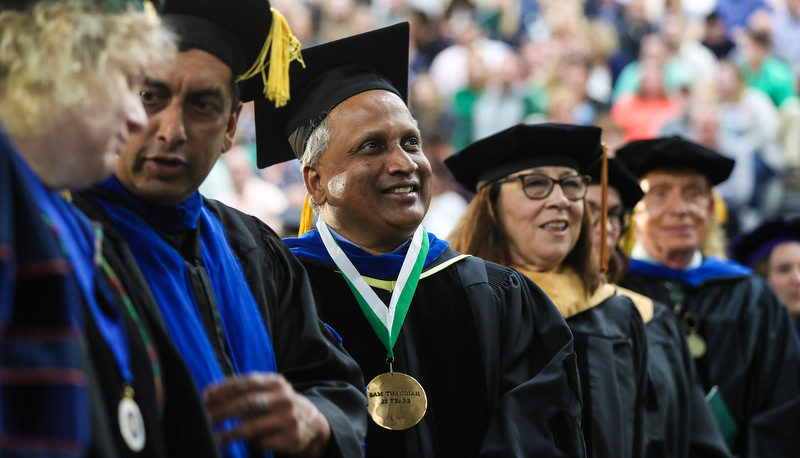
[[367,384],[369,405],[367,412],[379,426],[391,430],[408,429],[422,420],[428,409],[425,390],[417,380],[407,374],[394,372],[394,344],[405,321],[414,291],[417,289],[425,258],[428,256],[428,233],[419,226],[411,238],[411,245],[403,260],[397,284],[389,301],[389,308],[373,291],[353,263],[333,239],[328,225],[317,219],[317,230],[328,254],[342,272],[347,286],[361,307],[373,331],[386,347],[389,372],[373,378]]

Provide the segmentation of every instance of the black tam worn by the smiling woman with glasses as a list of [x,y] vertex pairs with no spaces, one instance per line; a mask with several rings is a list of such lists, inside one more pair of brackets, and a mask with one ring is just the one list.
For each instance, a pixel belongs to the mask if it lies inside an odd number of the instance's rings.
[[564,166],[587,174],[603,153],[600,133],[595,126],[518,124],[472,143],[444,163],[472,191],[532,167]]

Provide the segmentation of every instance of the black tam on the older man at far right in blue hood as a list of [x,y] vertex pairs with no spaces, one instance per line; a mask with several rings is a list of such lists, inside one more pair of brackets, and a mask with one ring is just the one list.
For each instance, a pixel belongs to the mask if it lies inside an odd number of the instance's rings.
[[636,140],[617,151],[617,159],[638,178],[653,170],[695,170],[712,186],[728,179],[734,160],[679,136]]

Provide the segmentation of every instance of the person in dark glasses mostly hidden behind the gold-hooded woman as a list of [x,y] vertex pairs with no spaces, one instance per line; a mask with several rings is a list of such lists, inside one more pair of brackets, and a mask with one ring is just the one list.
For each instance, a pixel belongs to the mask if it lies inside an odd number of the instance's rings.
[[[599,259],[602,188],[601,163],[589,172],[586,206],[592,216],[594,254]],[[636,179],[620,162],[608,160],[606,249],[609,253],[606,279],[616,283],[630,262],[620,240],[631,222],[634,207],[642,198]],[[645,322],[647,333],[647,413],[645,456],[659,458],[728,457],[727,447],[714,416],[704,399],[700,378],[675,314],[666,305],[614,285],[617,293],[633,300]]]

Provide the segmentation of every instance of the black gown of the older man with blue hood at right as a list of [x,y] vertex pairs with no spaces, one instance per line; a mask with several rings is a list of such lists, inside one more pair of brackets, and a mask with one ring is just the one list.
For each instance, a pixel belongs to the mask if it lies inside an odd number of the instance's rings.
[[712,279],[698,287],[628,273],[621,285],[700,318],[707,350],[695,365],[706,392],[719,387],[738,427],[734,455],[800,457],[800,347],[763,279]]

